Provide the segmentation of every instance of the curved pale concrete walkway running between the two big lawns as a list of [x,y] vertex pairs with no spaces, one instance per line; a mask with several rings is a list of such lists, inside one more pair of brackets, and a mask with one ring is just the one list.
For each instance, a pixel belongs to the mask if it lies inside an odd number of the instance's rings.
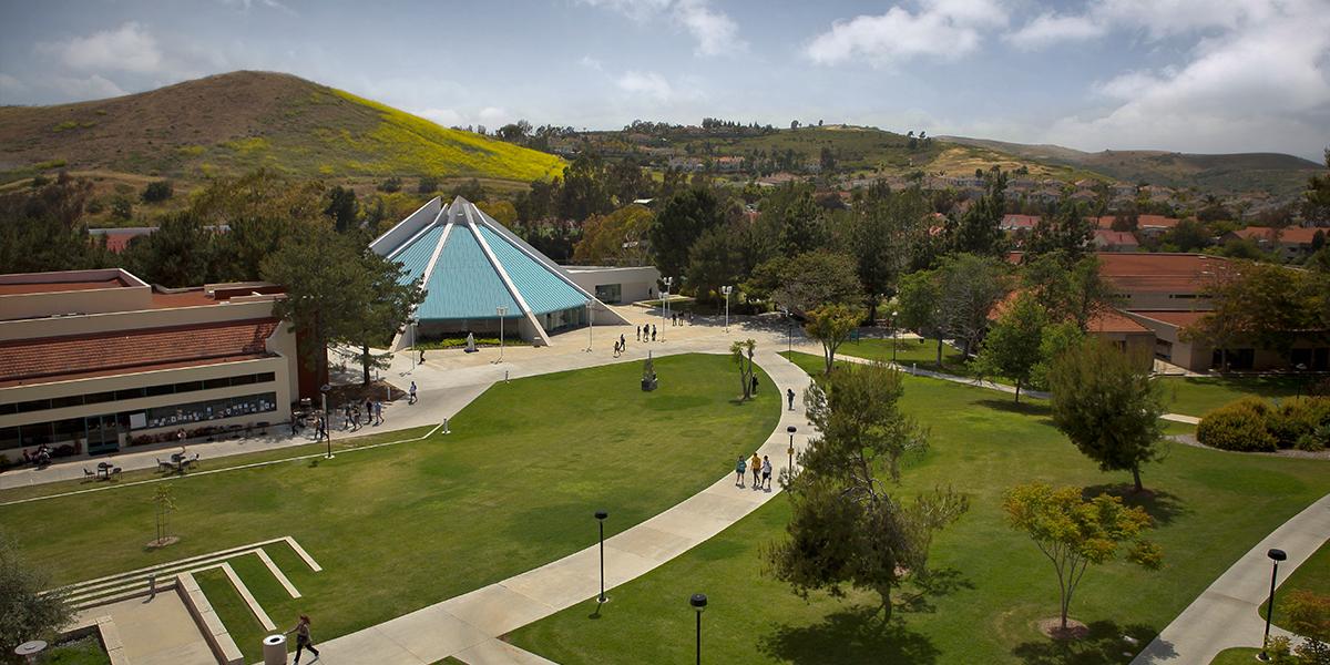
[[[801,391],[811,379],[771,351],[757,354],[758,364],[781,387]],[[802,404],[782,411],[781,422],[758,450],[771,459],[774,476],[787,464],[787,426],[795,426],[795,448],[807,443],[810,427]],[[749,481],[751,477],[749,477]],[[779,493],[735,487],[726,473],[702,492],[605,540],[605,588],[645,575],[720,533]],[[613,519],[613,511],[610,511]],[[430,605],[383,624],[319,645],[322,661],[427,665],[456,656],[472,665],[489,662],[548,662],[497,638],[555,612],[592,598],[598,592],[598,548],[569,555],[455,598]],[[609,593],[609,592],[606,592]]]

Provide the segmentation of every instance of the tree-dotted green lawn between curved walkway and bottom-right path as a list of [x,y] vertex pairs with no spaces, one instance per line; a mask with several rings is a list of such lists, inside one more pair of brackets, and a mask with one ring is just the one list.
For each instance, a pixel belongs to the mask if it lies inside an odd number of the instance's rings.
[[[815,370],[819,359],[797,355]],[[778,497],[718,537],[609,592],[598,614],[583,602],[525,626],[513,644],[563,664],[688,662],[690,593],[710,597],[704,617],[709,662],[952,664],[1125,662],[1121,636],[1148,644],[1241,553],[1330,491],[1330,463],[1237,456],[1172,446],[1144,471],[1148,495],[1128,473],[1104,473],[1049,423],[1047,406],[956,383],[906,378],[904,408],[931,430],[931,450],[907,462],[903,496],[952,485],[971,509],[932,545],[946,592],[918,598],[887,628],[870,616],[872,597],[810,602],[763,573],[763,544],[781,537],[789,504]],[[1052,564],[1007,527],[1001,493],[1019,483],[1073,484],[1123,493],[1157,520],[1165,565],[1123,563],[1087,573],[1072,616],[1091,636],[1068,649],[1039,633],[1057,613]],[[899,596],[898,596],[899,597]]]

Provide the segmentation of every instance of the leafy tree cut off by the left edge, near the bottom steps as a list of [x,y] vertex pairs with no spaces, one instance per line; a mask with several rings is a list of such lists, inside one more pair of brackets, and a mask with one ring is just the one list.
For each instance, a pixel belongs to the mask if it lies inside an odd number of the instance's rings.
[[41,593],[49,587],[51,580],[29,568],[17,544],[0,533],[0,652],[7,657],[28,640],[55,636],[73,618],[61,595]]

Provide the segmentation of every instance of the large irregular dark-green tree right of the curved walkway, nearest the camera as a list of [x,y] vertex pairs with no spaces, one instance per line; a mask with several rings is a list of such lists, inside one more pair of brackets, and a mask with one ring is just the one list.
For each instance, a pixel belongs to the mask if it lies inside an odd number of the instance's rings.
[[886,480],[899,480],[900,458],[927,446],[927,432],[899,408],[903,392],[900,372],[880,363],[833,372],[805,392],[821,434],[799,454],[799,471],[782,475],[793,517],[786,537],[763,552],[771,575],[801,597],[866,589],[890,618],[892,589],[927,577],[934,532],[968,508],[951,489],[912,501],[886,491]]

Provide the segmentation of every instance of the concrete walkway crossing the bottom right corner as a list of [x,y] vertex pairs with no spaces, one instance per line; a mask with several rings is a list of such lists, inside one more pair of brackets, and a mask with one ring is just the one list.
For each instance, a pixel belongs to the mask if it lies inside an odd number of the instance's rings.
[[[1327,539],[1330,495],[1281,524],[1242,555],[1165,626],[1132,665],[1206,665],[1224,649],[1261,646],[1265,621],[1260,608],[1270,593],[1271,563],[1266,552],[1278,548],[1289,555],[1287,561],[1279,564],[1282,583]],[[1274,626],[1270,634],[1289,636]]]

